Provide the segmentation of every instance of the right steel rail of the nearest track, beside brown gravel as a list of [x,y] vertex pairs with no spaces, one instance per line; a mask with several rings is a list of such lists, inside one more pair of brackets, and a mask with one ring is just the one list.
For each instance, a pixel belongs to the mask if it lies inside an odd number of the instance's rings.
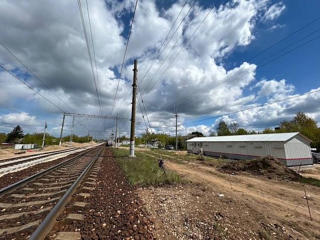
[[91,160],[89,165],[83,170],[81,175],[74,181],[74,184],[69,188],[69,190],[61,197],[59,202],[54,206],[51,212],[46,216],[46,218],[41,222],[39,227],[33,232],[29,240],[43,240],[47,234],[51,231],[52,227],[56,222],[56,218],[62,213],[65,209],[66,204],[70,201],[72,194],[80,185],[81,181],[83,180],[84,176],[90,170],[92,165],[100,156],[104,147],[101,147],[101,150],[98,154]]

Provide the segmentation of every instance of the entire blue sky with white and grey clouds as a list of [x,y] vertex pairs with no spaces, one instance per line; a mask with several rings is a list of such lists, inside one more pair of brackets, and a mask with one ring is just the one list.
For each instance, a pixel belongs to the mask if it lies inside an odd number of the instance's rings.
[[[140,0],[138,2],[113,115],[119,113],[121,117],[130,118],[130,104],[124,106],[124,103],[131,92],[133,59],[138,59],[138,81],[142,81],[142,76],[147,72],[154,54],[165,40],[184,2],[185,0]],[[178,123],[184,124],[319,89],[317,67],[320,66],[318,50],[320,38],[281,56],[266,66],[260,67],[264,62],[259,62],[318,30],[320,20],[251,59],[260,51],[320,17],[317,11],[320,9],[320,2],[317,0],[310,0],[308,3],[290,0],[220,1],[170,68],[164,72],[215,1],[204,1],[179,40],[182,29],[193,16],[200,2],[196,1],[196,5],[182,22],[181,27],[177,28],[177,33],[172,36],[168,47],[164,49],[146,78],[143,79],[141,88],[144,89],[148,83],[149,88],[163,73],[148,96],[143,95],[150,124],[155,131],[174,134],[175,120],[172,109],[176,101],[182,104],[186,100],[196,98],[183,108],[182,106],[179,108]],[[87,17],[85,1],[82,3],[84,16]],[[193,0],[187,1],[173,30],[192,3]],[[118,85],[134,4],[134,0],[89,2],[103,114],[107,116],[111,114]],[[15,12],[20,11],[25,14],[17,18]],[[85,23],[89,34],[86,18]],[[34,0],[18,4],[4,0],[0,3],[0,32],[2,35],[0,42],[14,52],[75,112],[100,114],[79,9],[74,1],[45,4]],[[320,31],[275,54],[268,61],[319,35]],[[174,45],[175,41],[177,41],[176,45]],[[89,46],[93,54],[91,40]],[[170,48],[172,48],[171,53]],[[167,54],[169,54],[168,58],[165,58]],[[2,46],[0,46],[0,56],[1,65],[18,77],[25,78],[26,70]],[[247,61],[248,59],[250,60]],[[226,83],[227,79],[234,75],[240,76],[240,73],[248,68],[252,69],[252,72]],[[151,81],[154,73],[156,73],[155,77]],[[210,84],[212,81],[216,83]],[[71,111],[30,73],[26,75],[26,82],[54,104],[66,109],[66,112]],[[0,71],[0,84],[4,86],[1,89],[0,106],[7,108],[0,109],[2,111],[0,112],[0,132],[10,131],[15,124],[22,125],[25,132],[41,131],[42,121],[47,120],[50,125],[49,133],[55,136],[59,134],[62,113],[58,109],[6,72]],[[207,87],[197,95],[193,94],[206,84],[209,84],[212,89]],[[222,87],[214,88],[216,84]],[[209,90],[209,94],[205,92]],[[182,98],[185,99],[179,101]],[[246,129],[262,130],[264,127],[276,126],[281,120],[290,119],[296,111],[304,111],[320,121],[319,103],[318,93],[307,95],[243,113],[181,125],[179,134],[184,135],[195,130],[209,134],[215,131],[220,120],[228,124],[236,121]],[[143,121],[139,105],[137,105],[137,119]],[[77,119],[77,121],[80,120]],[[71,118],[67,118],[66,121],[70,126]],[[78,135],[87,134],[88,128],[104,130],[101,120],[85,122],[87,122],[86,126],[76,127]],[[107,129],[110,131],[114,128],[114,124],[111,120]],[[66,134],[70,130],[69,126],[66,127]],[[129,135],[128,122],[121,122],[120,126],[123,133]],[[144,132],[145,128],[144,124],[137,126],[137,134]]]

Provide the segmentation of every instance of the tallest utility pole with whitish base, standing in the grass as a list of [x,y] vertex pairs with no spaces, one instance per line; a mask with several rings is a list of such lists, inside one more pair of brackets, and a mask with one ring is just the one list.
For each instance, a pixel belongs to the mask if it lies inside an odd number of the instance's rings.
[[133,90],[132,90],[132,111],[131,111],[131,131],[130,131],[130,151],[129,157],[134,158],[134,137],[135,137],[135,124],[136,124],[136,96],[137,96],[137,59],[134,60],[133,68]]

